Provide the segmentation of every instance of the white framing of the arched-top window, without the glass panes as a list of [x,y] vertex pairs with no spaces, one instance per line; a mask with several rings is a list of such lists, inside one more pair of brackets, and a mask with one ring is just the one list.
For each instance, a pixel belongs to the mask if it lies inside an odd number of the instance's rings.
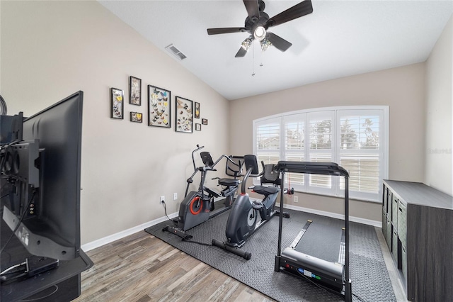
[[[330,111],[330,112],[328,112]],[[280,123],[280,147],[277,150],[272,150],[273,153],[277,152],[280,160],[285,160],[285,156],[289,154],[297,154],[297,150],[288,149],[286,150],[286,123],[291,121],[304,121],[304,150],[303,158],[308,161],[310,155],[331,154],[331,162],[338,162],[342,155],[353,152],[355,149],[342,150],[340,146],[341,138],[341,116],[346,116],[350,113],[354,113],[356,116],[379,116],[379,148],[374,151],[359,150],[360,154],[377,153],[379,158],[379,184],[378,191],[376,194],[367,193],[362,191],[349,190],[350,198],[363,201],[381,202],[382,196],[382,181],[383,179],[389,178],[389,106],[336,106],[336,107],[325,107],[325,108],[311,108],[299,111],[290,111],[285,113],[275,114],[273,116],[266,116],[253,120],[253,154],[263,156],[268,150],[258,150],[257,140],[257,129],[260,125],[266,125],[268,123]],[[331,149],[330,150],[313,150],[310,148],[310,129],[309,129],[309,116],[322,116],[325,114],[331,114]],[[304,118],[301,118],[304,117]],[[288,151],[288,152],[287,152]],[[267,163],[267,162],[266,162]],[[260,166],[260,164],[258,165]],[[294,187],[295,191],[319,194],[326,196],[344,196],[344,189],[340,189],[340,179],[338,177],[331,177],[331,188],[321,188],[309,185],[309,174],[304,174],[304,184],[290,184]],[[288,175],[286,181],[291,181],[291,175]],[[258,184],[259,179],[254,179],[254,183]]]

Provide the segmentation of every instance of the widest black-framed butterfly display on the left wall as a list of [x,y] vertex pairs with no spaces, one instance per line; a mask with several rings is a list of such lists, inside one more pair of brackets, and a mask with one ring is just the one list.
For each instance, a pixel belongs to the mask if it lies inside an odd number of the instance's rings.
[[148,85],[148,125],[171,128],[171,91]]

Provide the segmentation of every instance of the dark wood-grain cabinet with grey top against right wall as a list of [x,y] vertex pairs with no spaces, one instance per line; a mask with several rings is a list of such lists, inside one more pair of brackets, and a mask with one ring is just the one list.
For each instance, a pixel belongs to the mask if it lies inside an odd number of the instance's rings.
[[409,301],[453,301],[453,197],[384,180],[382,233]]

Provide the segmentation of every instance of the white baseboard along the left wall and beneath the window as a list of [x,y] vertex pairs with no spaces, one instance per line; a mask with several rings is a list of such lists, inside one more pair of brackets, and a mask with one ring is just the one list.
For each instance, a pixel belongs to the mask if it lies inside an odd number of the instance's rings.
[[[278,205],[278,203],[277,203]],[[331,213],[331,212],[326,212],[326,211],[319,211],[319,210],[314,210],[312,208],[303,208],[301,206],[292,206],[292,205],[285,205],[285,208],[289,208],[290,210],[294,211],[302,211],[302,212],[307,212],[307,213],[313,213],[321,216],[327,216],[331,218],[338,218],[338,219],[345,219],[345,216],[343,214],[338,214],[338,213]],[[178,216],[178,212],[172,213],[168,216],[168,218],[173,219]],[[85,245],[81,246],[81,249],[84,250],[84,252],[88,252],[90,250],[96,249],[96,247],[101,247],[103,245],[107,245],[110,242],[113,242],[115,240],[120,240],[121,238],[124,238],[126,236],[132,235],[134,233],[140,232],[144,230],[145,228],[149,228],[153,225],[156,225],[157,223],[161,223],[167,220],[166,217],[161,217],[155,220],[151,220],[148,223],[143,223],[141,225],[137,225],[134,228],[130,228],[127,230],[123,230],[119,233],[103,237],[98,240],[94,240],[92,242],[88,242]],[[365,218],[360,218],[360,217],[354,217],[350,216],[349,217],[350,221],[354,221],[355,223],[363,223],[365,225],[372,225],[377,228],[382,228],[382,223],[381,221],[376,221],[376,220],[369,220]]]

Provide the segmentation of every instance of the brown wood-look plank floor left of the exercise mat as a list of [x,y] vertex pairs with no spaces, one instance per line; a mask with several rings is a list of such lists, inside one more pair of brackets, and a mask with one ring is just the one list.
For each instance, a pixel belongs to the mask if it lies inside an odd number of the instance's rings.
[[144,231],[87,255],[74,301],[273,301]]

